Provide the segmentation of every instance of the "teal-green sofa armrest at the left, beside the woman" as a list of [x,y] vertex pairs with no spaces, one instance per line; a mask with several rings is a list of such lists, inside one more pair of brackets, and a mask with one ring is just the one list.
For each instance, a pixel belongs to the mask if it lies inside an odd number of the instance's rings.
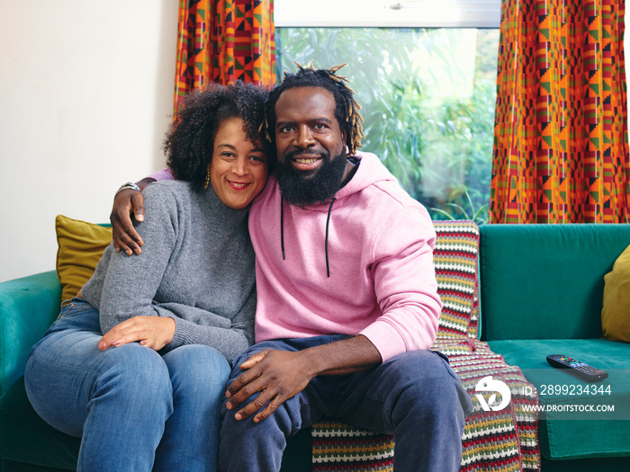
[[54,271],[0,283],[0,395],[23,375],[32,345],[58,316],[60,298]]

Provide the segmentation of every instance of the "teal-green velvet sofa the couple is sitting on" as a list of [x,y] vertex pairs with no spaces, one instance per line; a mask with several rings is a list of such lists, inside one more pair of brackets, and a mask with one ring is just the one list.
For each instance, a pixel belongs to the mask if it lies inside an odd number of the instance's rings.
[[[598,414],[583,418],[580,414],[541,414],[532,427],[537,427],[533,436],[538,438],[536,450],[539,445],[542,452],[543,472],[630,470],[630,344],[600,339],[599,321],[604,275],[630,244],[630,225],[484,225],[480,229],[482,341],[457,338],[456,343],[472,346],[471,359],[486,356],[500,366],[505,364],[503,359],[518,366],[530,382],[521,385],[536,386],[541,405],[593,401],[615,405],[615,417],[609,420]],[[3,472],[75,468],[79,441],[40,420],[28,404],[22,379],[31,345],[58,315],[60,291],[55,272],[0,283]],[[493,352],[484,352],[482,346],[486,345]],[[551,353],[567,354],[607,370],[610,377],[601,385],[610,387],[610,395],[543,395],[548,385],[581,384],[546,363],[545,356]],[[477,378],[463,381],[474,386]],[[469,387],[469,391],[474,399],[473,389]],[[513,392],[513,399],[515,394],[518,392]],[[515,410],[514,414],[519,413]],[[477,412],[476,418],[482,422],[483,412]],[[475,442],[474,430],[468,428],[469,445]],[[497,470],[507,470],[501,468],[500,458],[496,463]],[[310,432],[291,439],[283,464],[284,471],[311,470]],[[470,466],[462,470],[490,469]]]

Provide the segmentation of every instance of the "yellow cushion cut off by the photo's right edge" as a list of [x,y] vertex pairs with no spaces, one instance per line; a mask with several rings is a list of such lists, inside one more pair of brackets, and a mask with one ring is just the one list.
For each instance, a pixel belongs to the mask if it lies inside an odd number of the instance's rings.
[[604,276],[601,327],[609,341],[630,343],[630,245]]

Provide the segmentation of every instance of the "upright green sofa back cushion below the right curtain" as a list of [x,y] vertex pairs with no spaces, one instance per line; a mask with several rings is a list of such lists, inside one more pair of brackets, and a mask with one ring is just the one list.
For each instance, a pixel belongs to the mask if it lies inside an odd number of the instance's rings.
[[630,225],[482,225],[482,340],[599,338]]

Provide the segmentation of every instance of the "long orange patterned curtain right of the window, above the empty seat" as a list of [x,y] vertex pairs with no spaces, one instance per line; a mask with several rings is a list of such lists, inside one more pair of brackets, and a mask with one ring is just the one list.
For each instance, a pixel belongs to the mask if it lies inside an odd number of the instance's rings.
[[628,219],[625,0],[503,0],[493,223]]

